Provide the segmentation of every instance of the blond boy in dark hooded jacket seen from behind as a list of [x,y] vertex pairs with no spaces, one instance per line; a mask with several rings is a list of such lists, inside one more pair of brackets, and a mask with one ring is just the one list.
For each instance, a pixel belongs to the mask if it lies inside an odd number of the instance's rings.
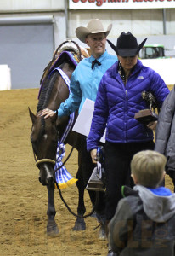
[[111,255],[175,255],[175,194],[158,187],[166,162],[163,154],[151,150],[133,156],[131,172],[136,186],[122,187],[127,197],[119,201],[109,224]]

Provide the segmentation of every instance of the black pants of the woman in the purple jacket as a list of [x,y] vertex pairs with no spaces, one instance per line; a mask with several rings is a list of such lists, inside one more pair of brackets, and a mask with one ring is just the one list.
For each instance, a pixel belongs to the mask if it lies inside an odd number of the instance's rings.
[[130,163],[133,154],[141,150],[154,150],[154,142],[146,143],[105,143],[105,175],[106,175],[106,219],[110,220],[121,199],[121,186],[133,187]]

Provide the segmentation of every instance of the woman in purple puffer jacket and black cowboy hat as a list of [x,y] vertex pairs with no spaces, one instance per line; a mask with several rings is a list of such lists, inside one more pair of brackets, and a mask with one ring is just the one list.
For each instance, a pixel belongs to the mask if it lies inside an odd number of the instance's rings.
[[[147,39],[147,38],[146,38]],[[95,108],[87,149],[95,163],[99,140],[105,134],[105,173],[106,173],[106,220],[114,216],[121,199],[121,186],[130,180],[130,162],[133,154],[144,149],[154,149],[153,131],[156,122],[143,125],[134,119],[134,114],[146,106],[142,92],[150,91],[161,108],[169,90],[158,73],[144,67],[138,60],[141,44],[131,32],[121,32],[116,46],[118,61],[102,77]],[[131,186],[133,184],[130,184]]]

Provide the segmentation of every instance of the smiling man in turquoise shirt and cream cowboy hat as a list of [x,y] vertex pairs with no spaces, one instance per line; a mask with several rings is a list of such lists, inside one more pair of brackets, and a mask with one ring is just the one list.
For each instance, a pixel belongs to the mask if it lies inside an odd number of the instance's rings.
[[[116,61],[115,55],[109,55],[105,50],[106,37],[110,33],[112,25],[110,24],[105,30],[102,21],[99,19],[90,20],[87,27],[77,27],[76,36],[83,43],[87,44],[91,51],[89,58],[83,59],[76,67],[71,76],[70,83],[70,96],[60,105],[58,109],[59,117],[64,115],[70,115],[76,109],[79,113],[82,109],[82,105],[88,98],[95,101],[97,96],[97,90],[99,82],[104,75],[105,71],[111,67]],[[53,116],[55,113],[50,109],[44,109],[42,116],[45,118]],[[83,179],[84,183],[88,183],[88,179],[91,176],[94,165],[91,160],[90,154],[87,152],[86,137],[82,136],[82,163],[83,163]],[[95,192],[89,191],[91,201],[95,203]],[[97,207],[97,216],[99,222],[104,226],[104,193],[100,192],[99,206]],[[104,238],[104,229],[99,233],[99,238]]]

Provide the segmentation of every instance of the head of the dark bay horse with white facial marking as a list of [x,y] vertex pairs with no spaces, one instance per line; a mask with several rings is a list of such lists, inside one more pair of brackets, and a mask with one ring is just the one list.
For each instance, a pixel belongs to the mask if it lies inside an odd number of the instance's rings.
[[54,163],[58,143],[56,125],[57,115],[53,118],[43,119],[35,115],[29,108],[32,122],[31,145],[36,156],[36,166],[39,168],[39,181],[42,185],[54,185]]

